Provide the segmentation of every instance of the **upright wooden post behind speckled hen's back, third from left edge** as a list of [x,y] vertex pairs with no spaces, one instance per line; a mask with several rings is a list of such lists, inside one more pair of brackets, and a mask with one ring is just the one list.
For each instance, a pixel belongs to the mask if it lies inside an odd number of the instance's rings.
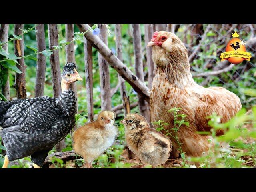
[[[36,42],[38,52],[46,50],[44,24],[38,24],[36,26]],[[45,69],[46,69],[46,56],[44,54],[37,55],[36,62],[36,86],[35,97],[44,96],[44,83],[45,83]]]

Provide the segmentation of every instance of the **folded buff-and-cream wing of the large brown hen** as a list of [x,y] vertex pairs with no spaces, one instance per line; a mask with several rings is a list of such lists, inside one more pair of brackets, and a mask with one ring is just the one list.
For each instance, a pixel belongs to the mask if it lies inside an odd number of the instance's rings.
[[240,109],[241,102],[238,96],[223,87],[204,88],[201,94],[196,93],[199,99],[195,109],[195,122],[198,131],[210,131],[208,118],[213,112],[222,116],[221,122],[227,122]]

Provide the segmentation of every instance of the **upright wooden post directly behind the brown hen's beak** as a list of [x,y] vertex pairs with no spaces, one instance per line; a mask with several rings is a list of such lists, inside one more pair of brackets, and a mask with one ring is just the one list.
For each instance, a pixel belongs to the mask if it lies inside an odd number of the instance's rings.
[[153,37],[153,26],[152,24],[145,24],[145,46],[148,64],[148,88],[151,89],[152,81],[154,78],[154,62],[152,60],[152,46],[148,47],[147,44]]

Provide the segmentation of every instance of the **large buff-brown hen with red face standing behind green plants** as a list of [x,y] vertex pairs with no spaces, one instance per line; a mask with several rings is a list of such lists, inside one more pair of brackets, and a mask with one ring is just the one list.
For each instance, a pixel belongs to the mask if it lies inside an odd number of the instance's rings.
[[[211,136],[200,135],[197,131],[210,131],[207,116],[216,112],[222,116],[221,122],[228,121],[241,109],[238,96],[223,87],[204,88],[192,78],[188,53],[182,41],[173,33],[155,32],[148,42],[152,46],[154,79],[150,94],[151,121],[163,120],[173,128],[171,108],[182,108],[190,126],[178,130],[182,151],[188,156],[202,156],[210,147]],[[223,132],[218,132],[218,135]],[[178,148],[176,140],[172,144]]]

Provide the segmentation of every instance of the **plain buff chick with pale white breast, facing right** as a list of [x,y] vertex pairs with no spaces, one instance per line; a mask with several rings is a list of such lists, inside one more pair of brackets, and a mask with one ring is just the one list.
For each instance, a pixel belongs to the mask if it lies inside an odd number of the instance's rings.
[[84,158],[87,168],[92,168],[92,161],[114,144],[118,136],[115,118],[115,112],[104,110],[98,114],[96,121],[78,128],[72,134],[73,149]]

